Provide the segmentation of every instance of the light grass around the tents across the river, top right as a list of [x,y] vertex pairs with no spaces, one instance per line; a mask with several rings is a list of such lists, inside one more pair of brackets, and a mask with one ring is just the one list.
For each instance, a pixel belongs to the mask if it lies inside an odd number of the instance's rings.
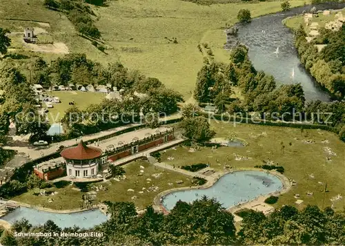
[[[319,13],[319,16],[313,17],[313,19],[311,19],[311,22],[317,22],[319,24],[318,26],[319,28],[324,28],[326,23],[330,21],[334,21],[335,14],[336,14],[335,12],[331,13],[331,15],[322,15],[322,13]],[[345,9],[342,10],[342,14],[345,15]],[[288,28],[292,28],[292,29],[299,28],[301,24],[304,26],[304,30],[306,30],[307,33],[310,32],[308,26],[306,26],[306,23],[304,22],[303,16],[289,18],[289,19],[286,19],[285,21],[285,25],[288,26]]]

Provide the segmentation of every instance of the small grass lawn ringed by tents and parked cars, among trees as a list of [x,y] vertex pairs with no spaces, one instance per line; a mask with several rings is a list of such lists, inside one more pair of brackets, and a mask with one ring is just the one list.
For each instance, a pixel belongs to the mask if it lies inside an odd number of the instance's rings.
[[90,106],[90,104],[99,104],[105,97],[103,93],[93,93],[90,91],[52,91],[48,95],[59,97],[61,101],[59,104],[52,104],[54,108],[48,108],[50,123],[59,122],[65,111],[70,107],[68,103],[73,100],[75,101],[75,106],[83,110]]

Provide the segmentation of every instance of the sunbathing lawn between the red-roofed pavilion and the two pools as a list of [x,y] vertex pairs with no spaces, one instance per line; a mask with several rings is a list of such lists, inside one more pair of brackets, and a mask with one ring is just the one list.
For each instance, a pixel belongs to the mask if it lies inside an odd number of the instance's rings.
[[[143,176],[137,176],[141,170],[140,166],[145,168],[143,169]],[[175,187],[189,186],[191,184],[190,177],[185,176],[184,174],[166,171],[144,161],[130,162],[129,164],[124,165],[124,169],[126,170],[126,180],[120,180],[117,182],[110,179],[108,182],[98,182],[93,184],[94,186],[99,187],[99,185],[103,185],[103,187],[108,188],[108,191],[99,191],[97,193],[97,200],[95,200],[94,204],[102,200],[110,200],[112,202],[128,201],[135,202],[135,205],[139,209],[144,209],[147,205],[152,204],[155,196],[157,196],[161,191]],[[152,177],[152,174],[154,173],[161,173],[161,176],[159,178],[154,178]],[[147,178],[150,178],[151,181],[146,180]],[[184,183],[177,185],[175,183],[177,180],[183,180]],[[168,185],[168,183],[172,183],[172,185]],[[157,191],[144,190],[144,193],[139,193],[139,191],[143,191],[143,187],[147,189],[152,185],[159,187],[159,189],[157,189]],[[58,193],[54,196],[34,196],[32,191],[28,191],[12,200],[26,202],[35,206],[44,205],[44,207],[48,207],[50,209],[60,209],[60,206],[62,209],[77,209],[82,202],[81,196],[83,193],[80,191],[74,191],[71,188],[72,186],[69,185],[60,189],[57,189],[56,187],[46,189],[47,191],[57,191]],[[127,191],[128,189],[134,189],[134,191]],[[65,191],[66,195],[64,195]],[[89,191],[95,191],[95,189],[89,189]],[[137,198],[132,199],[132,196],[137,196]],[[48,198],[54,199],[54,202],[48,202]]]

